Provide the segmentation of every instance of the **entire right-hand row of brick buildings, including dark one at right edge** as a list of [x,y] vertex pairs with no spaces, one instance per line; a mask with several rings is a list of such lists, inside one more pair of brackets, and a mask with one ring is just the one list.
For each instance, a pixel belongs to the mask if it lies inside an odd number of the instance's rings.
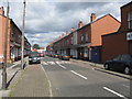
[[73,58],[102,63],[120,54],[132,54],[132,2],[121,7],[121,22],[111,14],[97,19],[91,13],[90,23],[78,23],[78,29],[62,35],[47,45],[48,53],[67,54]]

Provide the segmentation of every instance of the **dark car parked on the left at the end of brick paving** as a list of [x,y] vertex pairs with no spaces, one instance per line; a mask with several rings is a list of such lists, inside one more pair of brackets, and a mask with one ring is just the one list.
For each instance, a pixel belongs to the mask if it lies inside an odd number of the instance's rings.
[[36,53],[36,52],[32,52],[30,55],[29,55],[29,64],[41,64],[41,58],[40,58],[40,54]]

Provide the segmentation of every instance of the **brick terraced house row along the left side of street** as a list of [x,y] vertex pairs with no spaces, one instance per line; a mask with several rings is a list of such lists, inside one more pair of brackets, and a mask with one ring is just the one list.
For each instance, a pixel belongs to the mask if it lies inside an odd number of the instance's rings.
[[[0,8],[0,63],[3,62],[4,52],[4,33],[6,33],[6,19],[3,7]],[[14,62],[21,58],[21,37],[22,32],[9,18],[8,28],[8,42],[7,42],[7,59],[8,62]],[[24,56],[31,51],[31,44],[28,38],[24,37]]]

